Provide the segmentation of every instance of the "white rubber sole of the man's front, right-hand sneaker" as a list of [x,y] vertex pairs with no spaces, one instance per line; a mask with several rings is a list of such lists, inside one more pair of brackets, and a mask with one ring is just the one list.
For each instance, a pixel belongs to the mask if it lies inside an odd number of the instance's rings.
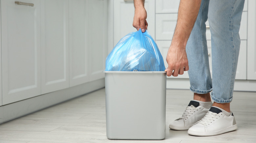
[[233,126],[230,126],[228,128],[225,128],[223,130],[216,131],[216,132],[195,132],[195,131],[188,130],[187,133],[189,135],[195,135],[195,136],[212,136],[212,135],[220,135],[220,134],[224,134],[227,132],[235,131],[236,129],[237,129],[237,125],[235,124]]

